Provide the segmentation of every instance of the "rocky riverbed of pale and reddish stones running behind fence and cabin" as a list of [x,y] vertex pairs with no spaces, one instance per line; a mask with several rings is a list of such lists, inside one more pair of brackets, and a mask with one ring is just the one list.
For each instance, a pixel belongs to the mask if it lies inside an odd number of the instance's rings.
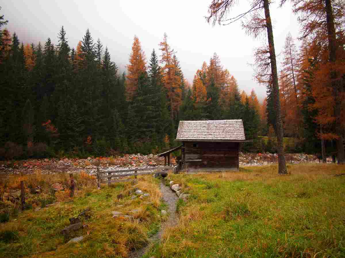
[[[302,163],[302,162],[319,162],[315,155],[304,153],[286,154],[286,161],[288,163]],[[176,159],[170,159],[171,165],[175,166]],[[276,153],[242,153],[239,154],[239,165],[269,165],[278,162],[278,155]],[[332,157],[327,158],[327,163],[332,162]],[[106,173],[110,170],[123,170],[133,168],[152,168],[155,166],[163,166],[164,158],[158,157],[154,154],[141,155],[125,154],[122,157],[88,157],[87,159],[68,159],[68,158],[53,158],[53,159],[29,159],[21,161],[1,161],[0,174],[29,174],[36,170],[41,173],[58,173],[58,172],[80,172],[85,171],[88,174],[96,174],[97,166],[99,171]]]

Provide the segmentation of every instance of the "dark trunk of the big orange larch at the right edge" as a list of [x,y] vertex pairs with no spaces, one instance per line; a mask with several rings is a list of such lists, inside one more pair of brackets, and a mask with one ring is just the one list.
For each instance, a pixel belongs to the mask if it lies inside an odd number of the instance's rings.
[[[331,0],[325,0],[326,5],[326,21],[327,21],[327,34],[328,34],[328,49],[329,49],[329,61],[332,65],[335,64],[336,61],[336,35],[335,35],[335,26],[334,26],[334,17],[332,11],[332,4]],[[342,91],[341,83],[337,80],[336,72],[331,70],[331,80],[332,80],[332,87],[333,87],[333,97],[335,99],[335,107],[334,107],[334,117],[335,120],[335,133],[338,136],[336,139],[337,144],[337,151],[338,151],[338,164],[345,163],[345,156],[344,156],[344,143],[343,143],[343,133],[344,129],[342,127],[341,121],[339,121],[339,116],[341,112],[341,99],[339,98],[339,93]]]

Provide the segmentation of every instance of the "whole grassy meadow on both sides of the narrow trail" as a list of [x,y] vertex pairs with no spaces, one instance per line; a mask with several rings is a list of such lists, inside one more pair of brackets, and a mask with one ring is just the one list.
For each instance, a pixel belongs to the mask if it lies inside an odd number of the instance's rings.
[[[345,173],[345,166],[292,164],[288,170],[291,174],[283,176],[276,165],[169,174],[167,184],[179,183],[190,198],[178,201],[178,225],[166,229],[145,257],[345,257],[345,176],[335,176]],[[66,175],[13,176],[8,185],[17,187],[19,180],[43,185],[61,176]],[[33,208],[11,213],[9,222],[0,223],[0,257],[126,257],[159,230],[165,206],[158,179],[148,175],[134,186],[104,185],[101,190],[86,182],[74,198],[60,191],[55,206],[36,212],[35,198],[53,193],[28,194]],[[135,188],[150,197],[131,200]],[[119,193],[124,198],[118,200]],[[87,227],[62,236],[68,219],[86,208],[91,209],[91,217],[82,221]],[[112,218],[111,211],[133,215],[134,222]],[[80,243],[67,244],[81,235]]]

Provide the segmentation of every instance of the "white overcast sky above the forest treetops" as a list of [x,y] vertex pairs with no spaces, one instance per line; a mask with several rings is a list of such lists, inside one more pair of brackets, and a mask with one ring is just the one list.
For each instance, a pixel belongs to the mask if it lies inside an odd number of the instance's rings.
[[[253,69],[248,63],[253,63],[253,50],[267,41],[266,37],[254,41],[245,35],[240,22],[215,27],[207,24],[204,16],[210,2],[12,0],[0,1],[0,15],[5,15],[9,20],[6,27],[11,33],[15,31],[24,44],[39,41],[44,44],[48,37],[56,44],[63,25],[69,45],[76,47],[89,28],[95,42],[100,38],[103,46],[108,46],[112,61],[121,71],[125,71],[128,63],[134,35],[138,36],[149,60],[152,49],[160,54],[158,44],[166,32],[168,43],[177,51],[182,71],[190,83],[196,70],[216,52],[224,68],[237,79],[240,90],[250,93],[254,88],[263,99],[266,88],[254,82]],[[248,7],[248,0],[240,2],[234,14]],[[299,31],[290,3],[278,8],[278,2],[270,6],[276,54],[281,52],[287,33],[296,38]]]

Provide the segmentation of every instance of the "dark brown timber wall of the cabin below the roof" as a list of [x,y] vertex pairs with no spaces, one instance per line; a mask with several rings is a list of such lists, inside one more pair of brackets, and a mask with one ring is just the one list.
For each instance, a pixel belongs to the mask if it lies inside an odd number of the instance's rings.
[[238,142],[184,142],[184,169],[238,170]]

